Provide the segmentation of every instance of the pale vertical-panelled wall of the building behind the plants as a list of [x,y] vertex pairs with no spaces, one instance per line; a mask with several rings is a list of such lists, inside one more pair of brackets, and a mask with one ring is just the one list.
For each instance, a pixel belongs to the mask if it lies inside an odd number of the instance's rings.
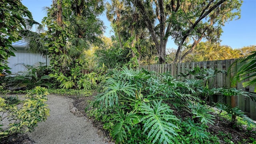
[[12,68],[10,70],[12,73],[17,73],[25,70],[24,66],[22,66],[20,63],[29,64],[29,65],[34,65],[38,62],[43,62],[43,63],[47,62],[47,65],[49,65],[50,63],[49,58],[47,58],[47,61],[46,61],[46,58],[40,56],[39,54],[32,54],[27,50],[25,50],[24,46],[15,47],[15,48],[17,50],[17,51],[14,51],[14,54],[16,56],[11,56],[10,58],[8,58],[8,62],[9,62],[8,66]]

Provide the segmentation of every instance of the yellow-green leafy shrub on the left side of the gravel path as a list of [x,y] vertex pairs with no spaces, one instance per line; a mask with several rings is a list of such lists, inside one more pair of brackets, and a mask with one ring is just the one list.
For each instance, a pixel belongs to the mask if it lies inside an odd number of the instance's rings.
[[26,94],[22,108],[18,108],[16,104],[7,104],[6,100],[0,98],[0,112],[6,114],[0,117],[0,121],[10,122],[10,124],[5,122],[4,127],[0,127],[0,139],[11,134],[31,131],[38,122],[45,121],[50,111],[45,104],[48,94],[46,88],[37,86]]

